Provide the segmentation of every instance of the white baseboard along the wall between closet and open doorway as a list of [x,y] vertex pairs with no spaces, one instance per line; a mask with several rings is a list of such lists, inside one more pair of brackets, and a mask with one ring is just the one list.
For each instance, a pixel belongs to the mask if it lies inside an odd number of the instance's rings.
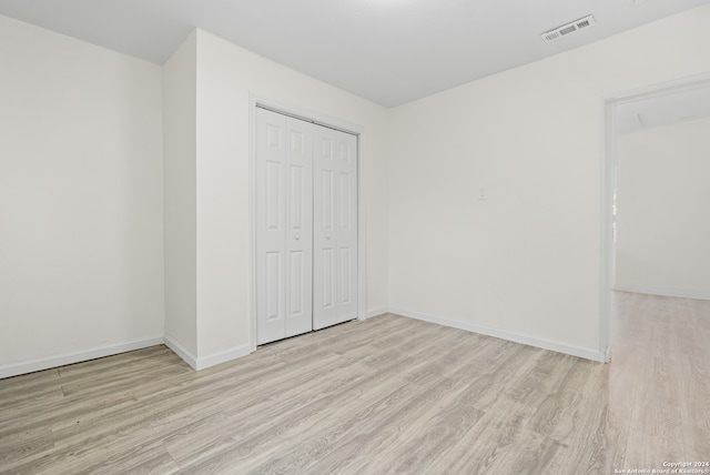
[[389,309],[389,312],[410,319],[423,320],[425,322],[436,323],[439,325],[452,326],[454,329],[466,330],[467,332],[479,333],[481,335],[495,336],[496,338],[508,340],[510,342],[521,343],[528,346],[535,346],[542,350],[550,350],[557,353],[564,353],[571,356],[579,356],[586,360],[606,362],[606,355],[602,352],[578,346],[566,345],[564,343],[550,342],[547,340],[535,338],[532,336],[520,335],[517,333],[506,332],[487,326],[475,325],[473,323],[460,322],[458,320],[443,319],[439,316],[427,315],[422,312],[414,312],[405,309]]

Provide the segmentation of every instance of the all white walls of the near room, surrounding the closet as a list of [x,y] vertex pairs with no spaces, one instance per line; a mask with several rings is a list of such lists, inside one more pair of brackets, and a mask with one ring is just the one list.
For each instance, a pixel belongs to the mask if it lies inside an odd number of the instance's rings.
[[364,127],[368,311],[598,357],[604,100],[708,73],[709,22],[390,111],[197,30],[165,67],[163,176],[160,67],[0,17],[0,376],[163,331],[199,366],[250,348],[250,92]]

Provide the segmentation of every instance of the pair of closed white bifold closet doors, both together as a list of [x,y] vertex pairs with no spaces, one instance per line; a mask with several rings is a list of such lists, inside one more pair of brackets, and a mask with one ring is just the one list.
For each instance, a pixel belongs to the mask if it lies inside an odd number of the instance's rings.
[[256,109],[256,341],[357,317],[357,139]]

